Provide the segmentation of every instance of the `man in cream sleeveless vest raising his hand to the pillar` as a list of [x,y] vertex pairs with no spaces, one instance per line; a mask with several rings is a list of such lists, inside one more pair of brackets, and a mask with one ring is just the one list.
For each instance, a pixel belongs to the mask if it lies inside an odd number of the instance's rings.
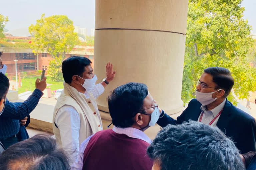
[[113,80],[115,71],[106,65],[106,78],[95,85],[91,61],[86,57],[72,56],[62,63],[64,90],[58,98],[53,114],[53,133],[57,143],[70,152],[75,160],[80,144],[90,135],[102,130],[96,99]]

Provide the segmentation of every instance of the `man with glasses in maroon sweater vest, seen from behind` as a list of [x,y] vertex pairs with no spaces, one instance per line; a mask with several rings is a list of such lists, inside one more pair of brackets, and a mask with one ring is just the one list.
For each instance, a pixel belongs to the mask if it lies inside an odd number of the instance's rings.
[[153,161],[146,154],[151,140],[143,131],[156,124],[160,113],[147,86],[117,87],[108,97],[108,107],[114,128],[99,131],[81,144],[73,170],[151,170]]

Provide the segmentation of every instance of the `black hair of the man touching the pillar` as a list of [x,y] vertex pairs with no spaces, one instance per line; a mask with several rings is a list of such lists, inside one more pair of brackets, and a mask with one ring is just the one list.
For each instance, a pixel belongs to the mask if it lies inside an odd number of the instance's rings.
[[86,66],[92,63],[86,57],[71,56],[62,62],[62,75],[64,81],[68,84],[72,82],[72,77],[78,75],[82,77]]

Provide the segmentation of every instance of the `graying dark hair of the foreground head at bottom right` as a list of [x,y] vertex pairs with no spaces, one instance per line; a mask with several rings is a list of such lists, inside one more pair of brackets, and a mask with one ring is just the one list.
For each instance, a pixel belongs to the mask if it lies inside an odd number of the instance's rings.
[[168,125],[147,149],[161,170],[244,170],[233,141],[215,127],[190,121]]

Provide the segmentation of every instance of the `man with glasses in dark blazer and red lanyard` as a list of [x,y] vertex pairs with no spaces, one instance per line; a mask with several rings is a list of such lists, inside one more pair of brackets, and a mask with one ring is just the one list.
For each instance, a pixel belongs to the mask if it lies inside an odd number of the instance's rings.
[[160,110],[157,124],[165,127],[168,124],[178,125],[189,120],[199,121],[217,126],[235,142],[241,153],[256,151],[255,119],[227,100],[233,85],[234,79],[228,69],[205,69],[198,81],[196,99],[189,102],[187,109],[177,120]]

